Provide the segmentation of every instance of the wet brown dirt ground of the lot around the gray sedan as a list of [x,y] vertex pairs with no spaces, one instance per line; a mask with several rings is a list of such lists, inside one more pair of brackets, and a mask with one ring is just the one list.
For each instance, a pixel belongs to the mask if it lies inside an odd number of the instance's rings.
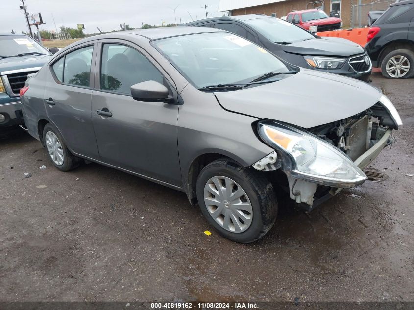
[[248,245],[206,236],[181,192],[97,164],[59,172],[26,133],[3,135],[0,300],[413,301],[414,79],[373,85],[404,122],[372,165],[389,178],[309,215],[280,206]]

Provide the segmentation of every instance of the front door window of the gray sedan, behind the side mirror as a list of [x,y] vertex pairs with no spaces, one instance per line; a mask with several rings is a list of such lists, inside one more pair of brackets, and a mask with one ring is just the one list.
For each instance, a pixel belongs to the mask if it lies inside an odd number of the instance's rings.
[[131,95],[131,86],[145,81],[163,84],[161,72],[139,51],[122,44],[104,44],[100,88]]

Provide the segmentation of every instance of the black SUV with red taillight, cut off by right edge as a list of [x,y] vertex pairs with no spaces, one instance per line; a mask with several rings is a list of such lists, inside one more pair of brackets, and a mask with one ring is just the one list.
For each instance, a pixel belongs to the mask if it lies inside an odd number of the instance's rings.
[[414,0],[390,5],[368,32],[365,45],[374,67],[387,78],[414,76]]

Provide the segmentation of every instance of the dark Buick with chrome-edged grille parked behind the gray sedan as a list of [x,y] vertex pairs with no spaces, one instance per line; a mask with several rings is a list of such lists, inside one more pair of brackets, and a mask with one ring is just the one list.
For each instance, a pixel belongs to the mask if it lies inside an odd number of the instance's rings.
[[372,64],[359,44],[319,37],[285,20],[263,14],[207,18],[183,26],[211,27],[233,32],[283,60],[303,68],[370,80]]

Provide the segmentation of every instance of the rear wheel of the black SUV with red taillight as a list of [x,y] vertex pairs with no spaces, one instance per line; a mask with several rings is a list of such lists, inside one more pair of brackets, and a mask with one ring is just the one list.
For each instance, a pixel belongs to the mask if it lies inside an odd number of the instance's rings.
[[[403,68],[400,66],[403,66]],[[409,49],[391,51],[385,55],[381,62],[381,73],[386,78],[409,78],[414,76],[414,53]]]

